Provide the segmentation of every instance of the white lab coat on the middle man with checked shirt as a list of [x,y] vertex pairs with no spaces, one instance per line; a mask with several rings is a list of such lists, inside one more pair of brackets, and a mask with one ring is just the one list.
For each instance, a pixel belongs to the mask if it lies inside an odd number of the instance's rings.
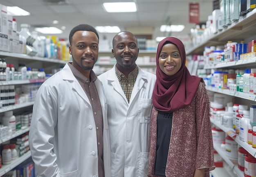
[[98,76],[108,102],[112,177],[146,177],[149,122],[155,74],[139,68],[130,103],[115,74],[115,66]]

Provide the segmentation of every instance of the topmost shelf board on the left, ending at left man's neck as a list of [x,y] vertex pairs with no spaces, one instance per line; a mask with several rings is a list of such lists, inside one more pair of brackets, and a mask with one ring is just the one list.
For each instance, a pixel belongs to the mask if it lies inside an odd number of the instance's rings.
[[37,56],[30,56],[22,53],[13,53],[13,52],[3,52],[0,51],[1,57],[11,57],[11,58],[18,58],[18,59],[26,59],[26,60],[33,60],[33,61],[43,61],[43,62],[49,62],[49,63],[61,63],[65,64],[67,61],[58,60],[58,59],[48,59],[43,57],[37,57]]

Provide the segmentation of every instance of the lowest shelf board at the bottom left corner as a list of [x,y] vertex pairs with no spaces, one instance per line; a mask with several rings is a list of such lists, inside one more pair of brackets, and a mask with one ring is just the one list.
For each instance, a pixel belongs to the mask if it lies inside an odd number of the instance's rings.
[[27,151],[24,155],[22,155],[21,157],[18,157],[15,160],[11,161],[11,164],[8,165],[2,165],[2,168],[0,168],[0,176],[4,175],[5,173],[7,173],[8,171],[12,170],[13,168],[15,168],[16,166],[18,166],[19,164],[21,164],[22,162],[24,162],[25,160],[27,160],[29,157],[31,157],[31,152]]

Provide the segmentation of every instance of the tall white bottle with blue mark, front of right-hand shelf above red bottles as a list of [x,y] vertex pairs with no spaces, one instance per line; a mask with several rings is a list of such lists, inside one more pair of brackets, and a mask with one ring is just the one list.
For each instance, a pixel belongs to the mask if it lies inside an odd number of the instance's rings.
[[240,120],[240,131],[239,131],[239,139],[247,142],[248,140],[248,125],[250,124],[250,111],[243,111],[243,118]]

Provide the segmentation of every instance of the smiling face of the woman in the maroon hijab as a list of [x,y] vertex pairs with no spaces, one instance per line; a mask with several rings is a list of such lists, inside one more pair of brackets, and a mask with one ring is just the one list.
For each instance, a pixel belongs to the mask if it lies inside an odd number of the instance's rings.
[[159,68],[168,76],[176,74],[182,65],[180,52],[174,44],[165,44],[159,58]]

